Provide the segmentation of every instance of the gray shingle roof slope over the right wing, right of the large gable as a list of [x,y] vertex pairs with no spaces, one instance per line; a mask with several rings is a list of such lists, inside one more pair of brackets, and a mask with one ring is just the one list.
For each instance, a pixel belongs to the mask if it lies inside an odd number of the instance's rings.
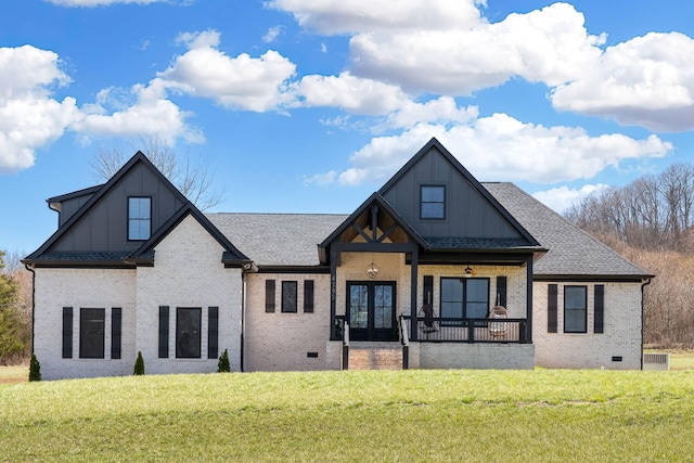
[[648,273],[571,224],[513,183],[483,183],[540,244],[549,249],[536,275],[646,276]]

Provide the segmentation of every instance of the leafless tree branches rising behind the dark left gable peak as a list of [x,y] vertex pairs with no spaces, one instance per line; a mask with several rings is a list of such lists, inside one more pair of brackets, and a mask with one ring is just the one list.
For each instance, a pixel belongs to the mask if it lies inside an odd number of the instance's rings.
[[91,160],[94,179],[108,180],[137,151],[144,153],[198,209],[207,210],[221,202],[223,194],[214,188],[214,170],[207,159],[193,159],[188,153],[177,154],[157,137],[140,137],[127,145],[114,142],[100,146]]

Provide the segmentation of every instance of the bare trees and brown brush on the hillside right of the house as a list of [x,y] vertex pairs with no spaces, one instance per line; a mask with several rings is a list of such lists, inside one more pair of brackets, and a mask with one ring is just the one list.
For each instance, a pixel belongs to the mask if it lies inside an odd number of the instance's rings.
[[656,275],[644,293],[644,343],[694,347],[694,165],[599,190],[564,216]]

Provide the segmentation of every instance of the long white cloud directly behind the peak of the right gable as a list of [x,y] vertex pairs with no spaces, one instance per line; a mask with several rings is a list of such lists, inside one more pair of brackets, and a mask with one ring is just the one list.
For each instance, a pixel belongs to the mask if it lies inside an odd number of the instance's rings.
[[494,114],[468,124],[417,124],[396,136],[376,137],[355,153],[340,184],[382,182],[429,138],[438,138],[480,180],[557,183],[589,179],[627,159],[661,157],[672,144],[656,136],[589,136],[581,128],[524,124]]

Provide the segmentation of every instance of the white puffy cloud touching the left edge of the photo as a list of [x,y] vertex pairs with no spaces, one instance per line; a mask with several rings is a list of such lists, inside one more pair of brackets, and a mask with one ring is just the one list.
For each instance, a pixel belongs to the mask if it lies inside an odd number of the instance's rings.
[[75,99],[51,98],[52,86],[67,82],[55,53],[0,48],[0,173],[33,166],[35,151],[59,139],[79,116]]

